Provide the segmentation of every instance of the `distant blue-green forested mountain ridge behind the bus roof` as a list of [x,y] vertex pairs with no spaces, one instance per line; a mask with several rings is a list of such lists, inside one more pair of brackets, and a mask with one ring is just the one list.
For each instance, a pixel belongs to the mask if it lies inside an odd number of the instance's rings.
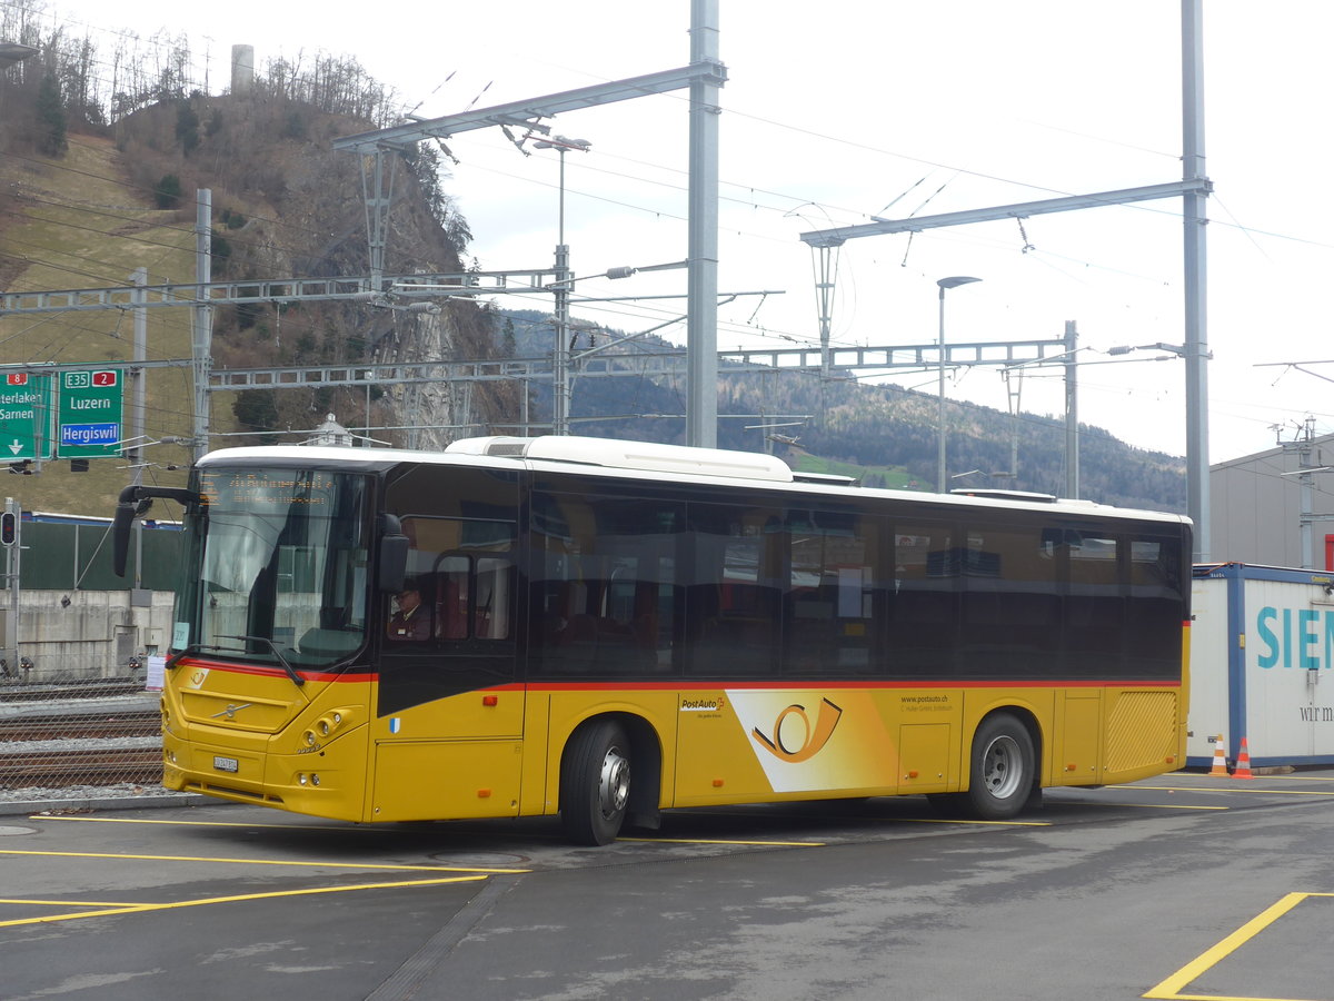
[[[502,311],[503,342],[519,356],[550,354],[555,336],[551,316],[524,310]],[[619,331],[603,331],[599,343]],[[634,359],[671,350],[656,338],[636,338],[610,355],[630,375],[575,378],[571,400],[576,434],[682,442],[684,384],[672,379],[634,375]],[[766,447],[794,466],[814,471],[828,463],[863,467],[831,471],[860,475],[867,486],[935,490],[936,396],[898,386],[863,386],[851,380],[822,382],[818,374],[774,371],[759,366],[724,366],[718,387],[718,444],[723,448],[763,451]],[[535,415],[550,415],[548,387],[534,390]],[[728,415],[736,415],[728,418]],[[756,424],[787,424],[768,431]],[[1030,490],[1066,494],[1065,420],[1010,414],[947,402],[950,470],[967,472],[952,486]],[[751,428],[751,430],[747,430]],[[1018,436],[1015,447],[1015,435]],[[795,438],[796,444],[784,442]],[[1011,451],[1018,467],[1010,468]],[[1186,507],[1185,462],[1178,456],[1134,448],[1107,431],[1079,426],[1081,496],[1102,503],[1153,510]],[[996,475],[1009,474],[1014,475]]]

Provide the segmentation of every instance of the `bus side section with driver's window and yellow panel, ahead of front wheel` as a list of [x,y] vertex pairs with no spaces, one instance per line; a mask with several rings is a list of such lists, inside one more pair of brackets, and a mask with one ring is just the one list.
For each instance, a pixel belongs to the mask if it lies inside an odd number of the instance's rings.
[[[396,502],[391,488],[410,550],[404,590],[383,599],[379,618],[370,819],[519,810],[516,522],[464,517],[506,509],[478,502],[484,483],[468,490],[463,471],[447,471],[454,475],[435,483],[439,470],[418,467],[428,482],[414,482]],[[412,514],[427,506],[431,514]]]

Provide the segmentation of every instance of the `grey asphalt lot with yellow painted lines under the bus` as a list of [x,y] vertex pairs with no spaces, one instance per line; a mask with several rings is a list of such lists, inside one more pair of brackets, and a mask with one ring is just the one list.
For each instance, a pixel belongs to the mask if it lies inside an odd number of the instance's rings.
[[204,805],[0,817],[0,998],[1331,1001],[1334,771],[356,827]]

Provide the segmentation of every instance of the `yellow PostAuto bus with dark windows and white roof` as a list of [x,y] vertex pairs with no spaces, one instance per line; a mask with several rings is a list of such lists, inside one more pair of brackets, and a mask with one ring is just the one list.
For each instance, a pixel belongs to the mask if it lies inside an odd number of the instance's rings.
[[1190,523],[860,488],[578,436],[205,455],[161,699],[171,789],[346,821],[1045,786],[1185,763]]

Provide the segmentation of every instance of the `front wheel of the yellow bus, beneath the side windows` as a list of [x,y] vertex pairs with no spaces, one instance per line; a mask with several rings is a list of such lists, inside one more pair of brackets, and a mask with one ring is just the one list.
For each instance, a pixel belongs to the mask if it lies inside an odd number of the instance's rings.
[[576,845],[616,840],[630,803],[630,738],[614,719],[575,731],[560,763],[560,822]]

